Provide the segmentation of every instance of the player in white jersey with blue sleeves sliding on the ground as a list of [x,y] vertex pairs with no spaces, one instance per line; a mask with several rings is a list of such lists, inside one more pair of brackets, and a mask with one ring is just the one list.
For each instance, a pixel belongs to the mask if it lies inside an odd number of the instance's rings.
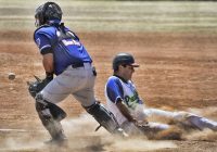
[[169,112],[145,107],[131,80],[135,67],[139,67],[139,64],[135,63],[131,54],[116,54],[113,60],[114,75],[107,79],[105,85],[107,109],[115,115],[118,124],[128,135],[169,129],[170,126],[167,124],[148,123],[148,117],[153,115],[174,119],[177,124],[187,127],[200,130],[209,128],[217,131],[217,123],[205,117],[188,112]]

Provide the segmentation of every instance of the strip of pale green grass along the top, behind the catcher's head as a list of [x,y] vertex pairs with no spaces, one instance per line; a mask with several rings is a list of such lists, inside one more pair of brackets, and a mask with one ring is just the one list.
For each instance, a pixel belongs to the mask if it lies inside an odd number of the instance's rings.
[[[44,0],[0,0],[1,29],[35,29]],[[217,2],[58,0],[65,25],[75,30],[217,33]]]

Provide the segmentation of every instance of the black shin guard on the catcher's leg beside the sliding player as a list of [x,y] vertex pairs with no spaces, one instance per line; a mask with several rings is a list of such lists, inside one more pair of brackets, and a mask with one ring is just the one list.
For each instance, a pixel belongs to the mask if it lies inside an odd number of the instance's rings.
[[85,107],[85,109],[100,124],[100,126],[95,130],[98,130],[101,126],[103,126],[111,134],[120,135],[124,137],[127,136],[124,132],[124,130],[119,127],[113,113],[108,112],[99,102],[95,102],[93,105]]

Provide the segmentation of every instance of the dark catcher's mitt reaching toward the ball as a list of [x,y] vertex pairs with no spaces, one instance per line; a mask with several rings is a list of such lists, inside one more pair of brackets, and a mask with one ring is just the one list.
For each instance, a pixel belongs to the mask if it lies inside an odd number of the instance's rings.
[[40,79],[37,76],[34,76],[36,81],[27,81],[28,91],[33,98],[36,97],[52,79]]

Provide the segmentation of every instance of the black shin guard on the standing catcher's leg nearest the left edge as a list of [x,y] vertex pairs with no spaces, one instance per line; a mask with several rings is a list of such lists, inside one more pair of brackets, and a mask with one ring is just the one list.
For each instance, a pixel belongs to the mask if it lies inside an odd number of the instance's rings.
[[56,106],[55,104],[52,104],[43,100],[39,96],[37,96],[36,98],[36,111],[38,112],[38,116],[41,119],[42,125],[49,131],[53,140],[56,140],[56,141],[64,140],[65,135],[63,134],[63,128],[60,122],[66,116],[65,112],[61,111],[62,115],[61,113],[58,113],[59,111],[54,113],[54,111],[59,110],[60,107]]

